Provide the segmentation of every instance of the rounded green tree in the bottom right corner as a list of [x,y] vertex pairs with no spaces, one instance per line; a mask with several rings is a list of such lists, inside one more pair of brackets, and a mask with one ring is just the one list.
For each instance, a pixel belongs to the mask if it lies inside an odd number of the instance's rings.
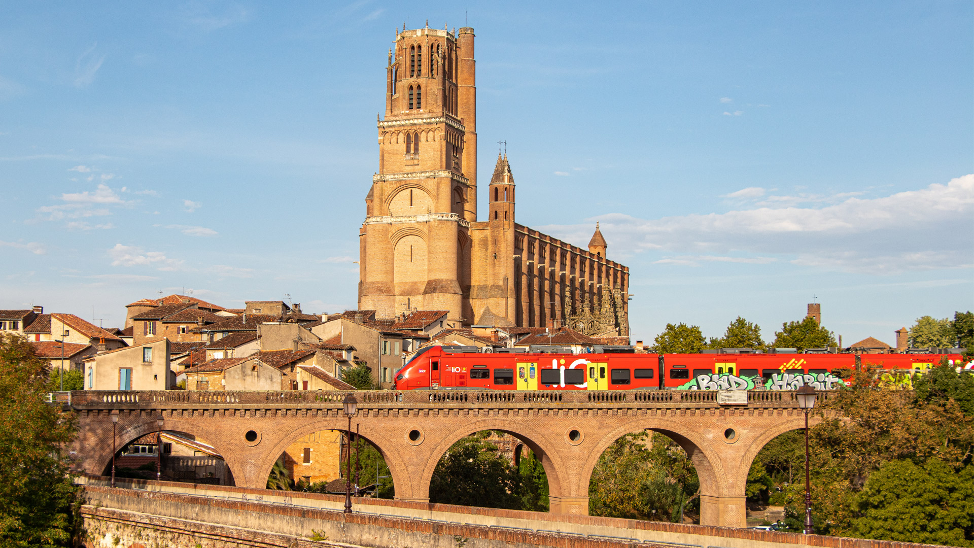
[[857,536],[974,546],[974,465],[955,473],[937,458],[891,460],[870,475],[859,510]]

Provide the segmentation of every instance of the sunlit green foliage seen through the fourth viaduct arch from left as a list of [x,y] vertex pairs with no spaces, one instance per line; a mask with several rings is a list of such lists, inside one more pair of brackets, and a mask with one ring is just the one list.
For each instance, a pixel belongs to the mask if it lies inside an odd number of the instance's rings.
[[699,481],[686,451],[662,434],[637,432],[602,453],[588,483],[592,516],[679,522],[694,510]]

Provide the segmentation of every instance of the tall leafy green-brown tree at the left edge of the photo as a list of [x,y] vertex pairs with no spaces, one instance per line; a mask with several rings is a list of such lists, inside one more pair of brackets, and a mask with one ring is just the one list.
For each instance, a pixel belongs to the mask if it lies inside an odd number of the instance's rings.
[[79,489],[61,448],[74,415],[44,403],[50,367],[22,336],[0,333],[0,546],[70,546]]

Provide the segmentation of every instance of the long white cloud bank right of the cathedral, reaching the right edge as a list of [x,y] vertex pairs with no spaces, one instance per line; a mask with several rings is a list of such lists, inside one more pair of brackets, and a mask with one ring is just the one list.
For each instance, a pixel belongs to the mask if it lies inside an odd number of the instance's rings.
[[[812,268],[894,273],[974,265],[974,175],[880,198],[852,196],[821,207],[757,207],[725,214],[641,219],[601,215],[610,251],[778,255]],[[589,223],[539,227],[570,242]],[[663,259],[665,260],[665,259]]]

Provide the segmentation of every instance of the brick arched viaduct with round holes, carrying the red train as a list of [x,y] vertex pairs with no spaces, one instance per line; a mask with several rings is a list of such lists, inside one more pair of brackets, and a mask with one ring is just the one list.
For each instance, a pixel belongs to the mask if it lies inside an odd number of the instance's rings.
[[[344,430],[346,392],[145,391],[72,393],[81,469],[101,474],[111,460],[110,413],[119,411],[116,445],[164,430],[198,436],[223,455],[236,485],[263,488],[274,462],[311,432]],[[751,391],[726,406],[712,391],[515,392],[356,391],[353,429],[381,451],[395,497],[429,501],[436,463],[455,442],[501,430],[539,457],[552,513],[588,513],[588,481],[619,437],[654,430],[680,444],[700,481],[700,525],[744,527],[744,488],[755,455],[775,436],[801,428],[793,392]],[[820,392],[819,402],[829,393]],[[821,420],[819,413],[812,423]]]

